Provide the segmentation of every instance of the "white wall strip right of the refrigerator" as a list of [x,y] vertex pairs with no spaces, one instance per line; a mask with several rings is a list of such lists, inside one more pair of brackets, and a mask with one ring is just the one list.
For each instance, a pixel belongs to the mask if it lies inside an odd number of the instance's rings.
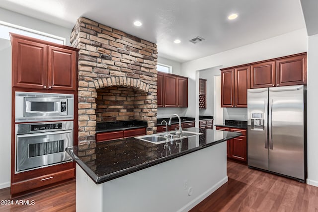
[[318,34],[308,39],[307,56],[307,153],[308,153],[308,178],[307,183],[318,186]]

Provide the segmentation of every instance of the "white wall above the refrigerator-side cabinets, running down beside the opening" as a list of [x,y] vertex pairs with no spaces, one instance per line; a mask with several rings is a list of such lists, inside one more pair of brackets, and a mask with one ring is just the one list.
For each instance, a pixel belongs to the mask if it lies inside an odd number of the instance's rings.
[[[222,65],[223,68],[272,59],[307,51],[306,29],[181,64],[182,75],[195,80],[195,72]],[[188,97],[195,97],[195,82],[189,80]],[[186,116],[194,116],[195,101],[189,101]]]

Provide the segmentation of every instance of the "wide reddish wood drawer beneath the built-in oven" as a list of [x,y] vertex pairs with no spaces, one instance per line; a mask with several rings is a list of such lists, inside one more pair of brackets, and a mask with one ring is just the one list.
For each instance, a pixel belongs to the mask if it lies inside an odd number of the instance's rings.
[[39,188],[75,177],[75,168],[11,184],[11,194]]

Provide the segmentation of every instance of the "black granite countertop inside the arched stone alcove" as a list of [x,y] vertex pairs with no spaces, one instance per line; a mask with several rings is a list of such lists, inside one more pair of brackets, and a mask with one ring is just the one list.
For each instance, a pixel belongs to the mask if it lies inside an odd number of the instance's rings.
[[98,122],[96,123],[96,133],[127,130],[142,127],[147,127],[147,122],[139,120]]

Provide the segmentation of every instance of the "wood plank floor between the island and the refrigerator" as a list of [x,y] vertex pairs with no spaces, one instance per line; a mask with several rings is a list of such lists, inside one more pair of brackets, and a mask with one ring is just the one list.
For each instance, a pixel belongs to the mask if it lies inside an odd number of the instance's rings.
[[228,177],[190,212],[318,212],[318,187],[232,161]]

